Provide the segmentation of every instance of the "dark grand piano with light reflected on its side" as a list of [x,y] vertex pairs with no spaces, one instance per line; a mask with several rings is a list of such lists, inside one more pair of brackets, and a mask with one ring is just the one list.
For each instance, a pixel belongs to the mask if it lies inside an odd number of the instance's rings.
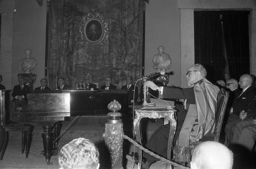
[[28,107],[16,109],[15,122],[35,122],[42,126],[42,141],[47,164],[51,165],[52,155],[58,152],[57,142],[61,121],[70,116],[106,115],[108,104],[118,101],[121,113],[128,112],[127,90],[53,90],[51,93],[28,93]]

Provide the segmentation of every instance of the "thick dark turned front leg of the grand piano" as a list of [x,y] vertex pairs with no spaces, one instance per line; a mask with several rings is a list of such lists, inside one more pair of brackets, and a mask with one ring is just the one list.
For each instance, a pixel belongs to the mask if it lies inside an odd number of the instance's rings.
[[42,142],[44,143],[44,156],[46,156],[46,163],[52,165],[50,162],[53,148],[53,125],[42,125],[44,133],[42,133]]

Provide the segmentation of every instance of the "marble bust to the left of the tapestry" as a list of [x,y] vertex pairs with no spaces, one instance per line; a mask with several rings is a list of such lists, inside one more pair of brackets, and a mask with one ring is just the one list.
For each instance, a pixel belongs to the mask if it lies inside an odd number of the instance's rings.
[[23,70],[25,74],[30,74],[36,64],[36,59],[32,57],[31,50],[25,50],[25,57],[19,61],[19,69]]

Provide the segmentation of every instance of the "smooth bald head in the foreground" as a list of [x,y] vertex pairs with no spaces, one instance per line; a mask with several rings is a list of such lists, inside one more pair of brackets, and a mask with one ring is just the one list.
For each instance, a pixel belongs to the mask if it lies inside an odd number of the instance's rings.
[[191,169],[231,169],[233,153],[223,144],[205,141],[194,150]]

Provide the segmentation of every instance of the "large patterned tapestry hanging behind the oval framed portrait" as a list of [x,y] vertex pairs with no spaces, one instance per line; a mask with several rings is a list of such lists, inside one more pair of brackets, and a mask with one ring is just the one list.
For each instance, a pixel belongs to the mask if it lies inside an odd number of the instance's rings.
[[[95,47],[84,43],[79,25],[94,9],[108,24],[108,38]],[[142,3],[137,0],[58,0],[49,7],[48,78],[76,86],[88,75],[103,85],[106,77],[120,87],[126,76],[141,77]]]

